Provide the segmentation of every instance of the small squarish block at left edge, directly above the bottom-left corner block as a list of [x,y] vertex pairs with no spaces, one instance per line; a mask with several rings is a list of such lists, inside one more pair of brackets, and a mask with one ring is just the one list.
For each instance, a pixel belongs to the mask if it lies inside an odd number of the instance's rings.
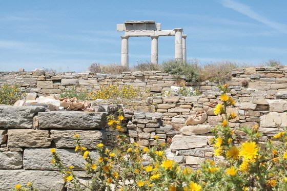
[[0,152],[0,168],[18,169],[22,168],[22,153],[15,151]]

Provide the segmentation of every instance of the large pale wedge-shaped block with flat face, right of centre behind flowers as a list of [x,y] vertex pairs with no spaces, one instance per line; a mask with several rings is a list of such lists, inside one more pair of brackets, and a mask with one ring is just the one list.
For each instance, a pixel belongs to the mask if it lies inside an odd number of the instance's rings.
[[170,145],[171,150],[187,150],[190,148],[203,147],[207,145],[206,136],[186,136],[186,135],[175,135],[172,138]]

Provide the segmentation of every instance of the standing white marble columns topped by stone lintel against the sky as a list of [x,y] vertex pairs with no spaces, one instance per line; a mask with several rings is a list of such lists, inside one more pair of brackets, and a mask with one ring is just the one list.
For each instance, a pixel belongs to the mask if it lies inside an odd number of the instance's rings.
[[121,66],[129,67],[129,37],[150,36],[151,37],[151,63],[158,64],[158,37],[175,36],[174,58],[180,61],[187,60],[186,38],[182,28],[173,30],[161,30],[161,24],[154,20],[126,21],[117,24],[117,31],[125,31],[121,36]]

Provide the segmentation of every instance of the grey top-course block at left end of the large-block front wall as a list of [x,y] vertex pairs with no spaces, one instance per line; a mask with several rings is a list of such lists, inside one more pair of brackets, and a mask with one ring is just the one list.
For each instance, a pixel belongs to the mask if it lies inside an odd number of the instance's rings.
[[33,117],[45,110],[43,106],[0,106],[0,127],[32,128]]

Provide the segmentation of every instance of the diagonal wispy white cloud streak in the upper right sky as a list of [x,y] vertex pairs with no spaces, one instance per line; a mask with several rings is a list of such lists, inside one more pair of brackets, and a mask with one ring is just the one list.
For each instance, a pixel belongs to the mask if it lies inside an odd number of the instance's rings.
[[221,1],[222,5],[224,7],[233,9],[245,16],[248,16],[254,20],[257,20],[258,22],[267,25],[273,29],[276,29],[282,33],[287,33],[287,25],[280,24],[278,22],[274,22],[258,13],[253,11],[249,6],[232,1],[232,0],[222,0]]

